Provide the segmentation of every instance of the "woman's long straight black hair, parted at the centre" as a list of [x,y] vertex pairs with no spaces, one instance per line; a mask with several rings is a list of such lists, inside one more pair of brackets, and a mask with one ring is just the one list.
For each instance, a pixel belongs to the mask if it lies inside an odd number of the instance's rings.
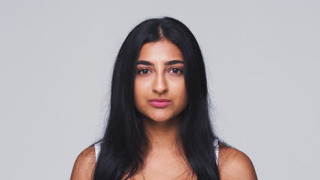
[[150,18],[139,23],[124,40],[111,80],[109,115],[101,151],[94,169],[94,180],[133,177],[142,168],[148,139],[142,115],[135,108],[133,83],[136,61],[142,45],[169,40],[181,50],[185,62],[185,86],[188,104],[183,110],[179,137],[187,163],[198,179],[219,179],[210,101],[206,85],[204,60],[196,37],[181,21],[168,16]]

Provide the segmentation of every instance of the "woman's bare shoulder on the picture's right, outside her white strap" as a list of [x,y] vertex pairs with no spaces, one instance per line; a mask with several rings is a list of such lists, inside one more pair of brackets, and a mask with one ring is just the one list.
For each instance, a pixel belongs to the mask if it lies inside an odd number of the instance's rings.
[[[220,145],[220,147],[224,145]],[[252,161],[242,151],[232,147],[219,149],[219,172],[222,180],[248,179],[256,180],[256,170]]]

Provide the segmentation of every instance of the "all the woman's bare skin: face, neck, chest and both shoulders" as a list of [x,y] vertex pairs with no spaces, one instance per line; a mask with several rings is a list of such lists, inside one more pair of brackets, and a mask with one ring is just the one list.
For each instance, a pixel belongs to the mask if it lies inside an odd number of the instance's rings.
[[[178,153],[178,127],[181,112],[187,106],[187,91],[183,63],[165,65],[168,61],[183,61],[181,50],[168,40],[144,44],[139,52],[134,83],[135,106],[143,115],[144,128],[150,141],[145,166],[135,179],[196,179],[185,157]],[[152,65],[150,65],[152,64]],[[151,106],[148,100],[164,97],[171,100],[165,108]],[[222,180],[257,179],[254,166],[245,153],[228,147],[219,150],[219,172]],[[92,179],[94,147],[82,151],[72,169],[72,180]]]

